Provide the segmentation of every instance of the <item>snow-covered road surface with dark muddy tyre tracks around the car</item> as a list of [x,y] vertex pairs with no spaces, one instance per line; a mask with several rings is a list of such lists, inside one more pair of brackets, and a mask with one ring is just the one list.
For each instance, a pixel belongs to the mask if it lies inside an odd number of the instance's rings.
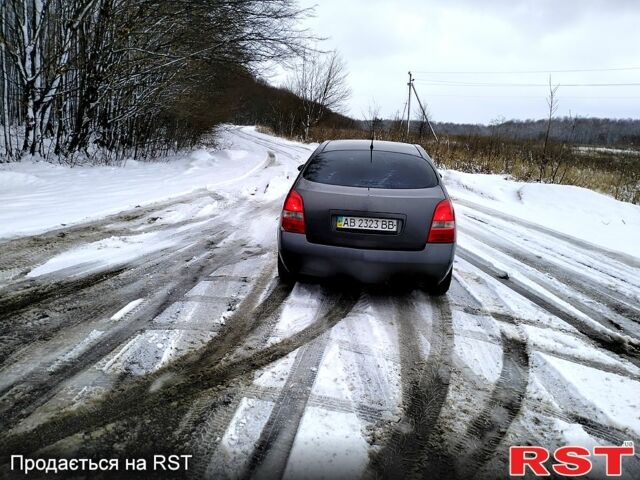
[[[4,473],[21,475],[11,454],[171,453],[193,455],[194,478],[505,478],[511,445],[638,442],[637,206],[580,191],[558,228],[536,217],[545,186],[445,172],[446,297],[287,287],[278,215],[315,146],[246,127],[222,146],[226,170],[213,153],[182,196],[121,193],[143,206],[0,244]],[[596,223],[577,212],[589,201]],[[607,209],[611,244],[585,235]],[[638,456],[623,468],[640,478]]]

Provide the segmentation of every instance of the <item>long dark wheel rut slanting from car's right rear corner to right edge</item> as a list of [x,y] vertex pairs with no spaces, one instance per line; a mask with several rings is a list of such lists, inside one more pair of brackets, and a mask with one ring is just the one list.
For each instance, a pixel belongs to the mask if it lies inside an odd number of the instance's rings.
[[456,254],[475,266],[485,274],[492,277],[494,280],[500,282],[507,288],[513,290],[515,293],[531,301],[538,307],[547,311],[551,315],[558,317],[559,319],[567,322],[579,332],[583,333],[587,338],[610,352],[616,353],[621,357],[629,360],[636,366],[640,366],[640,348],[637,342],[631,342],[630,339],[623,337],[616,332],[604,332],[602,330],[594,328],[592,325],[584,320],[581,320],[572,314],[566,312],[561,307],[554,305],[551,301],[543,298],[539,294],[530,290],[526,285],[521,282],[510,278],[498,271],[493,265],[486,260],[478,257],[477,255],[458,247]]

